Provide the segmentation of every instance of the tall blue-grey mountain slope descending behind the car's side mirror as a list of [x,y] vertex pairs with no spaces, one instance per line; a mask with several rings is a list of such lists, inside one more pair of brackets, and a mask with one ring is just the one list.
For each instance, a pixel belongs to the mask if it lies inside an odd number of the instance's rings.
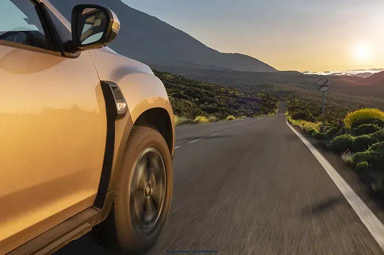
[[129,7],[121,0],[50,0],[71,20],[72,7],[79,3],[108,6],[119,17],[121,28],[109,45],[119,54],[150,66],[184,66],[205,69],[276,72],[272,66],[248,55],[222,53],[182,30]]

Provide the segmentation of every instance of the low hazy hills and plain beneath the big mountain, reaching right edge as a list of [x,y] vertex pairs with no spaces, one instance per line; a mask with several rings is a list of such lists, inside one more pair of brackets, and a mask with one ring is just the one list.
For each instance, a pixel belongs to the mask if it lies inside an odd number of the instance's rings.
[[304,89],[317,90],[316,82],[320,78],[330,80],[329,92],[355,96],[375,96],[384,98],[384,71],[367,78],[344,75],[303,74],[296,71],[249,72],[235,70],[214,70],[190,67],[157,67],[161,70],[183,75],[187,78],[202,80],[213,84],[245,88],[264,86],[268,83],[285,84]]

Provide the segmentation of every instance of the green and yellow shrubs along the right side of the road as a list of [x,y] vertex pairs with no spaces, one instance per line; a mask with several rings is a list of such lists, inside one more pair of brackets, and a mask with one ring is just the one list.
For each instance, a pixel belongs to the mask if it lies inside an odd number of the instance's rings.
[[[384,194],[384,111],[381,101],[372,100],[370,105],[364,101],[352,101],[347,106],[326,104],[322,116],[320,101],[303,97],[297,93],[287,96],[288,121],[339,154],[373,191]],[[365,107],[360,108],[362,103]]]

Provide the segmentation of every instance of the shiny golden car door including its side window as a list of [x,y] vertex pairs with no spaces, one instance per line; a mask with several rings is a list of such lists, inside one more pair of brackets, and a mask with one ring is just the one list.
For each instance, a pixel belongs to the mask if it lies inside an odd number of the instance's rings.
[[103,164],[90,53],[56,51],[36,3],[0,1],[0,254],[91,206]]

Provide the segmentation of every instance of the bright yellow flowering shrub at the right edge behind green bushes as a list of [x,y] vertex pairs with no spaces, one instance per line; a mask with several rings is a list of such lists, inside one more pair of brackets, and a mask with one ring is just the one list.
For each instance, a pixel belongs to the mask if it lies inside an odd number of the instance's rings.
[[377,120],[384,120],[383,111],[376,108],[362,108],[349,112],[343,122],[346,128],[351,129],[362,124],[372,124]]

